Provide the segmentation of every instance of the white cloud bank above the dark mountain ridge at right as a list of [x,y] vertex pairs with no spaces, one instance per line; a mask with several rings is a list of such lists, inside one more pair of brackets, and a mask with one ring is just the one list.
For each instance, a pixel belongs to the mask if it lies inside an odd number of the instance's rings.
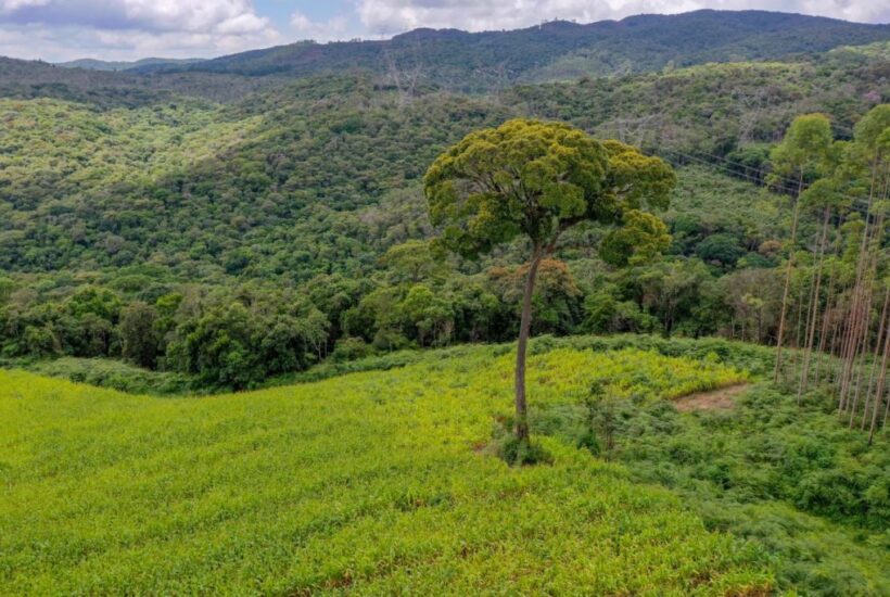
[[471,31],[527,27],[545,20],[593,23],[643,13],[698,9],[761,9],[857,22],[890,21],[890,0],[359,0],[358,14],[376,34],[417,27]]

